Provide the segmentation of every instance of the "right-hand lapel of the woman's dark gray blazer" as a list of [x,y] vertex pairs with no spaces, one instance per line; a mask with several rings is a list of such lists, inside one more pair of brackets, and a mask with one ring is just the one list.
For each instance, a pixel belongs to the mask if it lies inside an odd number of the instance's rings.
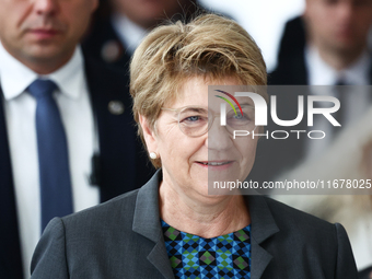
[[272,258],[272,255],[261,246],[261,243],[279,232],[279,228],[277,226],[264,197],[248,196],[247,200],[252,221],[251,278],[258,279],[261,278],[265,269]]

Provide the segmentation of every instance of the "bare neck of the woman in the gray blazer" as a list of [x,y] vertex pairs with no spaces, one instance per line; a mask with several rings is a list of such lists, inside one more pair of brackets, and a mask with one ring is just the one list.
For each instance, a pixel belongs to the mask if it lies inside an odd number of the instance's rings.
[[251,223],[243,196],[214,196],[196,200],[162,184],[161,218],[173,228],[206,239],[239,231]]

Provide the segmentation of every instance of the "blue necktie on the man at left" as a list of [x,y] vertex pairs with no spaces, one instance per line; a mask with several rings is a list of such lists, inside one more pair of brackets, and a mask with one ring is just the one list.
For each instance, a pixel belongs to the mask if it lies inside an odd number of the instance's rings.
[[36,133],[42,200],[42,232],[54,217],[72,213],[71,178],[65,128],[50,80],[35,80],[27,91],[36,98]]

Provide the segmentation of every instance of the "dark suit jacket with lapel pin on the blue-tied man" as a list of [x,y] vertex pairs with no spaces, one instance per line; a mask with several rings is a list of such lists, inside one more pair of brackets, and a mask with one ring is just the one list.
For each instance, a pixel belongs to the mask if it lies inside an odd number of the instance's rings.
[[[128,92],[128,77],[85,59],[92,107],[100,137],[96,176],[101,201],[143,185],[153,174],[137,138]],[[125,106],[120,115],[108,109],[111,101]],[[22,259],[9,142],[0,88],[0,278],[22,279]],[[37,218],[37,217],[35,217]]]

